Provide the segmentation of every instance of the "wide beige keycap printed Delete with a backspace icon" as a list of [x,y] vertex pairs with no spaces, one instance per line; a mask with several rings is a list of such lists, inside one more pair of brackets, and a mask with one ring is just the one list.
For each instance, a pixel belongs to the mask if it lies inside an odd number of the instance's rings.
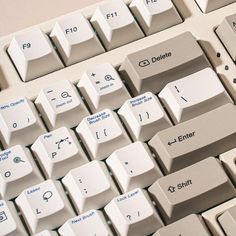
[[[185,52],[185,53],[183,53]],[[210,67],[189,32],[129,54],[120,73],[134,95],[158,93],[169,82]]]

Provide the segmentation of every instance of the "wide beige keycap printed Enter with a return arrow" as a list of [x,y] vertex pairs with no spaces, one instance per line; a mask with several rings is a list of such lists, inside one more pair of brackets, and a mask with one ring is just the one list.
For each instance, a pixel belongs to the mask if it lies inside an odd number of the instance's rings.
[[235,147],[236,106],[226,104],[158,132],[149,145],[166,173]]

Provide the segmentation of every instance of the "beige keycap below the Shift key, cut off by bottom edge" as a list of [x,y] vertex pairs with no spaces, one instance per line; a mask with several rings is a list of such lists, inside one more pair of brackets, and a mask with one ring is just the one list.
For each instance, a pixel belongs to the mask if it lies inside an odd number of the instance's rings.
[[[186,227],[187,226],[187,227]],[[166,227],[160,228],[153,236],[210,236],[203,220],[195,215],[189,215]]]

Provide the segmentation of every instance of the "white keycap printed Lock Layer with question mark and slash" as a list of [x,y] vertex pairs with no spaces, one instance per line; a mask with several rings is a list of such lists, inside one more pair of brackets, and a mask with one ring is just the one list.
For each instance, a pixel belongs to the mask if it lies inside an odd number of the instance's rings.
[[134,189],[114,198],[105,208],[120,236],[143,236],[163,226],[147,192]]

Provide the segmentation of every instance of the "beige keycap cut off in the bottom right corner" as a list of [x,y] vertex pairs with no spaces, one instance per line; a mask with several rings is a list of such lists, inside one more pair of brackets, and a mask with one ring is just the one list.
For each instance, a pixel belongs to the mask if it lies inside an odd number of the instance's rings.
[[236,232],[236,206],[231,207],[221,216],[218,217],[218,221],[227,236],[235,236]]

